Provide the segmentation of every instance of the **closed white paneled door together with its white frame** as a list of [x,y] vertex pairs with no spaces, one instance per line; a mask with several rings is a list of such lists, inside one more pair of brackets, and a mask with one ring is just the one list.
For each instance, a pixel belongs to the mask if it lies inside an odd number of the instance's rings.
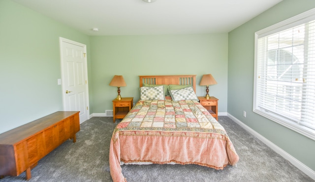
[[60,37],[63,109],[90,119],[86,45]]

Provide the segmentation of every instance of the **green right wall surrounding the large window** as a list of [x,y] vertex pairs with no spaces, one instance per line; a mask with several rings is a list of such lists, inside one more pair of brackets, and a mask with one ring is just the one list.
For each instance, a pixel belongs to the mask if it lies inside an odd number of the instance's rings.
[[[228,34],[229,114],[315,171],[315,141],[252,112],[254,32],[315,7],[314,0],[283,0]],[[243,117],[243,110],[247,117]]]

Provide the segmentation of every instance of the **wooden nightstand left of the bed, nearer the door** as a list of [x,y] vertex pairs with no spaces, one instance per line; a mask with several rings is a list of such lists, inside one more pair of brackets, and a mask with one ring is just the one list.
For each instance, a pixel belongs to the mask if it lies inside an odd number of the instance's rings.
[[125,97],[121,100],[113,100],[113,120],[123,119],[133,106],[133,97]]

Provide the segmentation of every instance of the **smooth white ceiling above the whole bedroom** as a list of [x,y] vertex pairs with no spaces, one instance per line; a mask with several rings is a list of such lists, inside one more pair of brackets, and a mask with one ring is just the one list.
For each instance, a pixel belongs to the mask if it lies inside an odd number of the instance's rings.
[[13,1],[87,35],[144,35],[229,32],[282,0]]

